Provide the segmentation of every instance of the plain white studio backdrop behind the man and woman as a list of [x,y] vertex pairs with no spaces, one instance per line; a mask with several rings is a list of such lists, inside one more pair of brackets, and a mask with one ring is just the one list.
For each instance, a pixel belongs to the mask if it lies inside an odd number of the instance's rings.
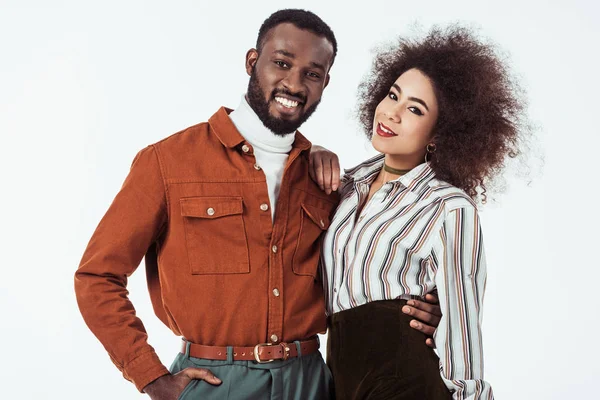
[[[511,56],[541,172],[483,208],[486,378],[499,399],[595,399],[599,6],[589,1],[0,1],[0,397],[136,399],[81,318],[73,273],[136,152],[237,106],[262,21],[303,7],[339,55],[302,131],[343,167],[373,154],[353,118],[382,41],[460,20]],[[163,362],[143,268],[131,298]]]

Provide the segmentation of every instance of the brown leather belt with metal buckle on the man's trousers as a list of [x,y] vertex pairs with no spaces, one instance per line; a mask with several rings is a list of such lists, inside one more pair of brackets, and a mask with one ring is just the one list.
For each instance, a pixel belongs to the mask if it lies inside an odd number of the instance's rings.
[[[227,360],[226,346],[204,346],[187,342],[181,343],[181,353],[186,354],[187,344],[190,345],[190,356],[208,360]],[[300,342],[302,355],[312,354],[319,350],[319,339],[313,338]],[[254,347],[233,347],[233,360],[256,361],[260,364],[275,360],[287,360],[298,357],[295,343],[259,343]]]

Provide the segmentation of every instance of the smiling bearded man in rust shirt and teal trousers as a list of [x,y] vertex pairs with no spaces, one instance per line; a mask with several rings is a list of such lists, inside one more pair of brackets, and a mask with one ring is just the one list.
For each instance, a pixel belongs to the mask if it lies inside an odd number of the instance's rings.
[[[140,151],[90,240],[75,274],[81,312],[152,399],[331,396],[317,351],[326,329],[317,267],[337,197],[310,179],[311,144],[296,129],[336,51],[316,15],[271,15],[246,55],[240,106]],[[329,192],[336,181],[325,180]],[[185,338],[171,371],[127,297],[144,256],[155,313]]]

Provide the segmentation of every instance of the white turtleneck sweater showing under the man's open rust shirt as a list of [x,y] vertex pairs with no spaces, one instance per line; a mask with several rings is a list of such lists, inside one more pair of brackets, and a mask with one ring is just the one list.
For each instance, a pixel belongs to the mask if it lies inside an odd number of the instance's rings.
[[283,170],[295,139],[294,132],[285,136],[274,134],[263,125],[258,115],[248,104],[246,96],[242,96],[240,105],[229,114],[229,118],[246,141],[254,148],[256,163],[267,177],[271,217],[274,219]]

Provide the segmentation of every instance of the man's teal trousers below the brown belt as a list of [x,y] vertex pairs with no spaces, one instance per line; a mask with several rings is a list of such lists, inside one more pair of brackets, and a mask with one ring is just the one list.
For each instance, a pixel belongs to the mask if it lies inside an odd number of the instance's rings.
[[[301,354],[298,342],[296,347]],[[179,353],[170,371],[175,374],[188,367],[210,369],[223,383],[213,386],[194,380],[179,400],[330,400],[335,397],[331,372],[319,352],[267,364],[233,361],[231,347],[225,361]]]

